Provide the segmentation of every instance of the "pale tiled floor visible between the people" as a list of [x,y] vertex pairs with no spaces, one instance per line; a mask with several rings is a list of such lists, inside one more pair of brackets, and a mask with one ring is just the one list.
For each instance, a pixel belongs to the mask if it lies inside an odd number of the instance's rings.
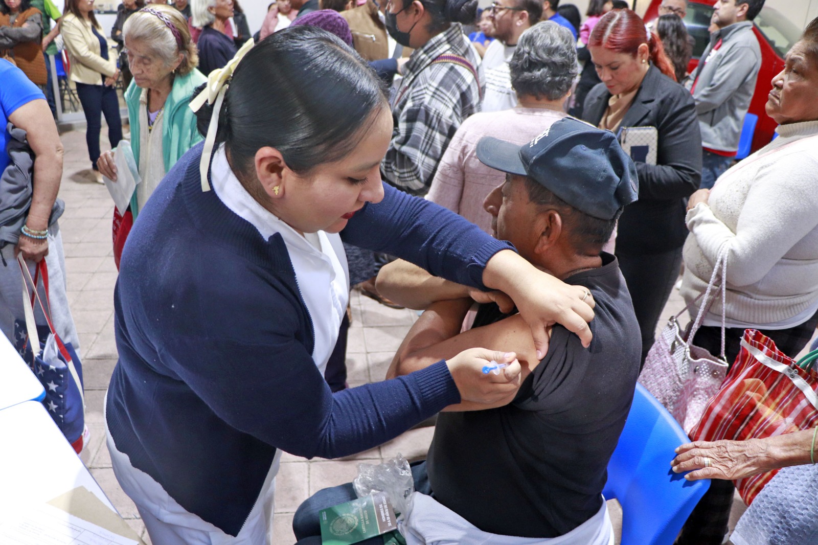
[[[66,206],[60,226],[65,243],[69,300],[83,355],[88,426],[92,433],[82,458],[119,513],[146,543],[150,543],[133,502],[116,482],[104,444],[102,400],[117,358],[113,326],[113,291],[117,272],[110,237],[114,205],[106,188],[93,182],[90,177],[84,133],[65,133],[62,141],[65,145],[65,167],[60,197],[65,200]],[[380,381],[416,314],[409,310],[387,309],[357,293],[353,293],[351,303],[353,323],[348,337],[349,383],[354,386]],[[663,316],[670,316],[678,309],[681,309],[681,299],[674,291]],[[410,430],[378,448],[336,461],[307,461],[285,454],[281,458],[281,472],[276,484],[273,543],[294,543],[290,529],[292,516],[299,503],[309,494],[327,486],[349,482],[357,475],[357,463],[361,461],[380,463],[397,453],[409,459],[425,457],[432,433],[433,429],[429,427]]]

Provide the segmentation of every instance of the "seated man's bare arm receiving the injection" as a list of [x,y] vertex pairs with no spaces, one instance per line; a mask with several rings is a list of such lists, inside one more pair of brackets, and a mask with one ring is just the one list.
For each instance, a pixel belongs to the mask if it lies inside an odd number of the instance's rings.
[[[500,352],[514,353],[522,367],[520,384],[540,363],[531,330],[519,314],[488,326],[459,333],[470,299],[439,301],[432,304],[409,330],[389,366],[387,378],[402,376],[429,367],[443,356],[458,354],[465,348],[484,346]],[[549,330],[549,334],[551,330]],[[459,403],[447,411],[475,411],[502,407],[515,399],[517,392],[492,404]]]

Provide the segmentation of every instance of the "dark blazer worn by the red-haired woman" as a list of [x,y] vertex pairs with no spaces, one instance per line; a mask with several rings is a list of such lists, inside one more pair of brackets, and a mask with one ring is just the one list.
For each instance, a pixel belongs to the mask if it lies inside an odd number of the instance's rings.
[[[611,94],[600,83],[585,99],[582,119],[598,126]],[[702,178],[702,136],[690,92],[651,65],[624,127],[655,127],[657,164],[636,163],[639,200],[619,218],[617,254],[658,254],[685,244],[686,199]]]

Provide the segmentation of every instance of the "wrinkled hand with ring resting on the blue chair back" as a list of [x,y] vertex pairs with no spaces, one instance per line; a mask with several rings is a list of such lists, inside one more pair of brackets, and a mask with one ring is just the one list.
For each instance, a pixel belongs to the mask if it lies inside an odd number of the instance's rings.
[[775,469],[763,439],[695,441],[676,448],[670,462],[675,473],[690,471],[686,480],[742,479]]

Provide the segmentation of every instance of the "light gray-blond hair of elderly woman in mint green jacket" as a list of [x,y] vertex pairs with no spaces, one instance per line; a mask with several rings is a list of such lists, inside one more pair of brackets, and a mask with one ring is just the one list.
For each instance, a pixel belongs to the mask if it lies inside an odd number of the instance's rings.
[[149,11],[137,11],[128,17],[122,29],[123,37],[128,42],[146,44],[151,48],[151,52],[164,62],[165,66],[172,66],[178,60],[179,53],[182,53],[182,63],[178,66],[178,73],[190,74],[199,64],[199,56],[196,52],[196,44],[191,40],[190,30],[187,29],[187,21],[175,7],[162,4],[151,4],[150,7],[151,10],[159,11],[164,15],[177,29],[182,47],[179,47],[168,25]]

